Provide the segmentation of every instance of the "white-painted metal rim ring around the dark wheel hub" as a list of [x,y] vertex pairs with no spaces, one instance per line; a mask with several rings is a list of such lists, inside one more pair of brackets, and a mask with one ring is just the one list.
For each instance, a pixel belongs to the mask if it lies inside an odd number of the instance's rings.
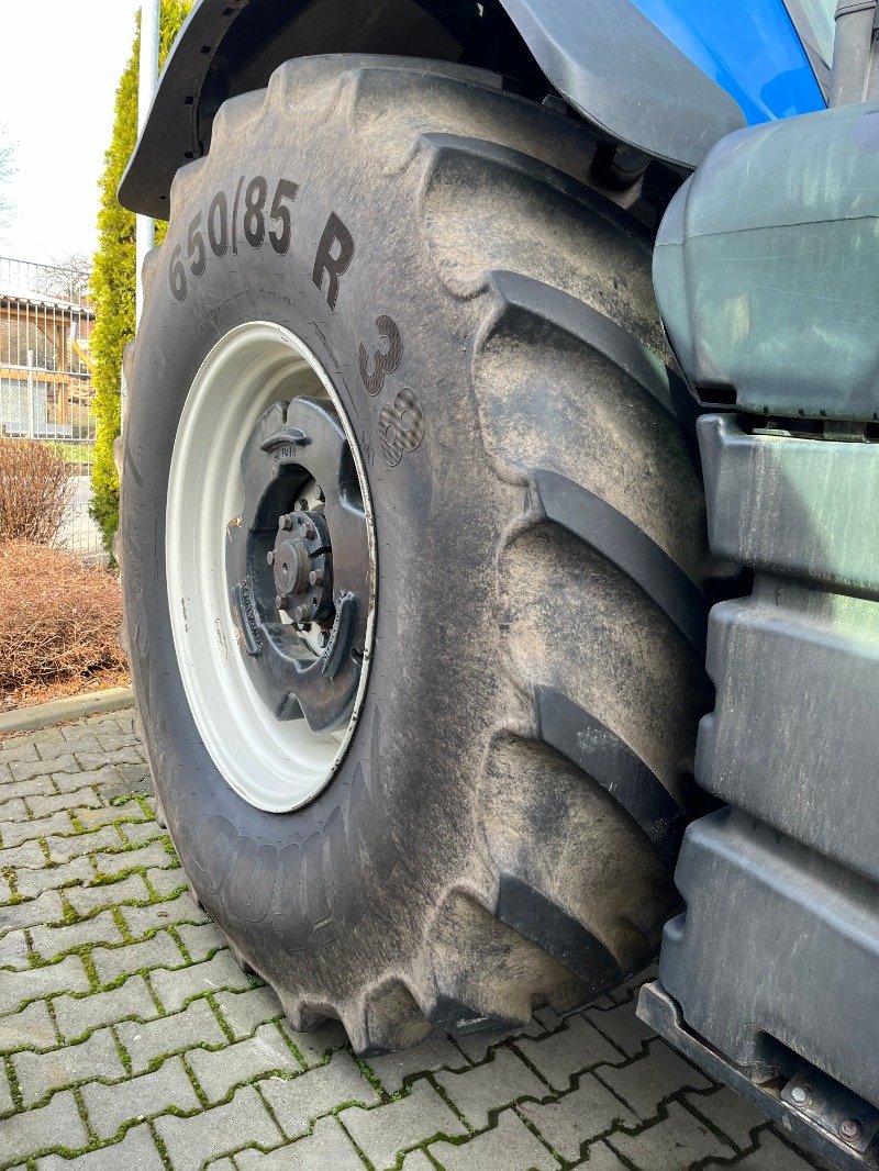
[[[277,720],[238,650],[224,568],[226,525],[241,513],[239,458],[267,408],[298,395],[328,398],[356,465],[367,521],[370,597],[360,685],[343,730],[316,734],[304,719]],[[205,441],[210,436],[210,441]],[[366,691],[375,610],[375,534],[366,472],[345,409],[316,357],[289,330],[251,322],[211,350],[186,397],[168,485],[165,570],[177,663],[192,717],[225,781],[258,809],[312,801],[350,744]]]

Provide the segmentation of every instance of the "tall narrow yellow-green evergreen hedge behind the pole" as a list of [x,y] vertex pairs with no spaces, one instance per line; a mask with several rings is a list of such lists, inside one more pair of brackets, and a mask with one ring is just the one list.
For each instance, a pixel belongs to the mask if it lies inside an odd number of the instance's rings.
[[[190,7],[191,0],[162,0],[159,63],[164,63]],[[100,184],[98,247],[91,280],[97,310],[90,343],[97,440],[91,473],[94,494],[90,512],[110,556],[120,513],[120,485],[113,461],[113,444],[120,433],[122,351],[135,336],[136,283],[135,217],[120,205],[116,191],[137,142],[139,54],[138,20],[131,56],[116,90],[113,141],[104,156],[104,172]],[[157,242],[164,237],[165,230],[165,224],[156,225]]]

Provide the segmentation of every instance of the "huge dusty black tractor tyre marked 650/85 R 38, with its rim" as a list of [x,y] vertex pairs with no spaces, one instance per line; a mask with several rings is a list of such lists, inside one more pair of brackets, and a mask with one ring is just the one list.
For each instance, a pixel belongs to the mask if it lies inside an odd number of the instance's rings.
[[[704,505],[652,241],[586,186],[590,151],[573,119],[490,74],[293,61],[222,107],[145,267],[121,533],[158,797],[234,954],[295,1028],[339,1016],[362,1053],[581,1002],[655,953],[676,904],[708,698]],[[279,345],[311,365],[279,376]],[[353,612],[373,597],[374,629],[346,652],[363,686],[334,775],[314,795],[291,766],[286,801],[260,788],[255,717],[210,667],[222,644],[230,678],[257,670],[267,570],[236,562],[255,575],[238,646],[219,612],[237,569],[217,612],[198,574],[220,581],[224,541],[257,540],[216,501],[251,398],[321,398],[315,370],[349,488],[354,460],[352,491],[372,498],[377,571]],[[267,431],[287,427],[275,466],[311,441],[288,434],[300,406],[257,424],[245,497]],[[293,481],[272,482],[292,508]],[[334,555],[341,581],[341,541]]]

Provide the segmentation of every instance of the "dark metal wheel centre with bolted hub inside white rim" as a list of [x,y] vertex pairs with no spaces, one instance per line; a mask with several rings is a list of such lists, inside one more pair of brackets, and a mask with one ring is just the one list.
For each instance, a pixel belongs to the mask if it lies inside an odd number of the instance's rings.
[[[369,595],[366,516],[334,412],[312,398],[274,403],[245,444],[241,477],[244,509],[226,542],[239,651],[275,719],[332,732],[357,692]],[[318,507],[299,499],[309,481]]]

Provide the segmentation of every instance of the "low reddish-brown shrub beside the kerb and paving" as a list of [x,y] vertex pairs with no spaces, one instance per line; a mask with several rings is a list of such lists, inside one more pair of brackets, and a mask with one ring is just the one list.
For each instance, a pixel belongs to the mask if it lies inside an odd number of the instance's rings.
[[0,692],[124,666],[121,622],[108,570],[48,545],[0,542]]

